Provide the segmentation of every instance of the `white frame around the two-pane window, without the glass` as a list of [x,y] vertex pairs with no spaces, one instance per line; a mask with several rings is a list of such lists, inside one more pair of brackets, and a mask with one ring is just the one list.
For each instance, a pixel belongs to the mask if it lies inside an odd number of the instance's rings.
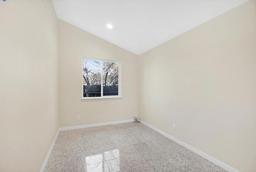
[[[84,60],[92,60],[92,61],[101,61],[101,95],[100,97],[84,97],[84,80],[82,79],[82,99],[110,99],[110,98],[121,98],[121,62],[120,61],[112,61],[112,60],[104,60],[104,59],[90,59],[83,58],[82,59],[82,75],[84,75],[83,64]],[[110,63],[118,63],[118,95],[105,95],[103,96],[103,62]],[[83,77],[81,77],[83,78]]]

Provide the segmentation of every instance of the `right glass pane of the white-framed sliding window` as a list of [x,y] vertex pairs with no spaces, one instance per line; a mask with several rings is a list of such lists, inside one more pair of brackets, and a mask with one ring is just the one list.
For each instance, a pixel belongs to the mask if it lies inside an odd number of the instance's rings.
[[103,62],[103,96],[118,95],[118,63]]

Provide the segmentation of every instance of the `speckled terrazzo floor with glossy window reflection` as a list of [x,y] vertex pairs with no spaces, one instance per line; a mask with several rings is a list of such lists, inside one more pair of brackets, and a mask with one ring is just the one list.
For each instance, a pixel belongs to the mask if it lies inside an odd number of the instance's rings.
[[226,172],[141,123],[61,131],[44,172]]

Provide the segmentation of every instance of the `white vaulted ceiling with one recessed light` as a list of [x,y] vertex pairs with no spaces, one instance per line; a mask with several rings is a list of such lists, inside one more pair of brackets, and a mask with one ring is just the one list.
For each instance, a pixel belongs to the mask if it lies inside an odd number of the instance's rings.
[[[140,55],[248,0],[53,0],[58,18]],[[106,24],[112,24],[108,29]]]

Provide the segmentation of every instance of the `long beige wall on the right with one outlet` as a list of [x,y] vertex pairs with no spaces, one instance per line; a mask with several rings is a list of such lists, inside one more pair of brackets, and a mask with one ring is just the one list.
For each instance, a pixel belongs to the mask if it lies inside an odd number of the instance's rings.
[[255,34],[250,0],[140,55],[139,117],[255,172]]

